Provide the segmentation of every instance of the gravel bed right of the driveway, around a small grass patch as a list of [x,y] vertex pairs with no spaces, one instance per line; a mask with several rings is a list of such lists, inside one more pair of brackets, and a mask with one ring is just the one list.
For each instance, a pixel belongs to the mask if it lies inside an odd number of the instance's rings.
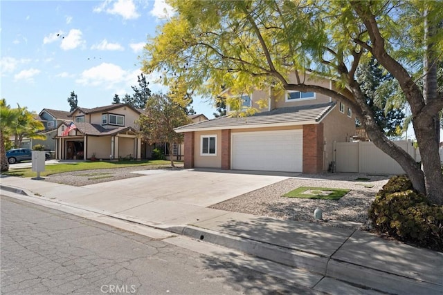
[[[359,181],[357,178],[370,178]],[[388,176],[354,173],[303,175],[271,184],[262,189],[215,204],[210,208],[269,216],[273,218],[320,222],[334,227],[365,227],[368,209],[375,194],[388,182]],[[350,189],[340,200],[284,198],[282,195],[297,187]],[[323,211],[323,220],[314,219],[315,209]]]

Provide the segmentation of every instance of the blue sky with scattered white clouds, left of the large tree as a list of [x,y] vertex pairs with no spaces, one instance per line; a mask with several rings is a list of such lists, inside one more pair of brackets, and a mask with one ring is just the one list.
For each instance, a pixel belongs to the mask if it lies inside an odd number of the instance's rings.
[[[172,13],[164,1],[0,1],[1,98],[30,111],[111,104],[138,86],[143,45]],[[168,91],[147,75],[154,93]],[[215,108],[194,99],[197,113]]]

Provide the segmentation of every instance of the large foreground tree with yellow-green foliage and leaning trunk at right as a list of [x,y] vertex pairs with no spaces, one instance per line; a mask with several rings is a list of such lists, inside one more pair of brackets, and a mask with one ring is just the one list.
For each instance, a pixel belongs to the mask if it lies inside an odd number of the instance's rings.
[[[273,85],[313,91],[345,102],[359,117],[368,136],[406,171],[415,189],[443,204],[435,117],[443,108],[439,91],[420,82],[442,59],[440,1],[168,1],[177,11],[145,46],[143,70],[179,75],[188,88],[216,97],[221,87],[251,91]],[[408,18],[408,19],[406,19]],[[417,25],[418,24],[418,25]],[[414,26],[415,30],[413,30]],[[415,44],[414,44],[415,42]],[[422,46],[416,46],[422,44]],[[431,50],[422,50],[424,44]],[[410,62],[430,57],[429,70]],[[379,128],[356,69],[374,57],[394,77],[409,104],[424,171]],[[305,74],[335,81],[330,89],[311,85]],[[296,81],[289,79],[296,74]],[[419,75],[418,75],[419,74]],[[418,76],[417,76],[418,75]],[[347,88],[353,95],[343,95]],[[426,88],[426,87],[425,87]],[[430,89],[435,89],[429,87]]]

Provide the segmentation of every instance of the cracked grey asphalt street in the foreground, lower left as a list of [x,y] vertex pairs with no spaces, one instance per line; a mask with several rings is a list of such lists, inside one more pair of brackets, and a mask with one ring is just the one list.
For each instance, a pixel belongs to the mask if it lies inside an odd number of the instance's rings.
[[0,230],[1,294],[321,294],[6,196]]

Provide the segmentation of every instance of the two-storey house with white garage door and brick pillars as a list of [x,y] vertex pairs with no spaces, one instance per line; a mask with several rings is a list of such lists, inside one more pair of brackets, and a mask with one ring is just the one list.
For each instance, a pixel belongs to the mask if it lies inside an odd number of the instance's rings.
[[[327,79],[307,83],[334,88]],[[334,144],[348,142],[356,133],[352,109],[320,93],[270,87],[239,99],[245,108],[258,108],[257,101],[267,99],[268,108],[248,117],[224,116],[175,129],[185,134],[185,168],[320,173],[334,161]]]

